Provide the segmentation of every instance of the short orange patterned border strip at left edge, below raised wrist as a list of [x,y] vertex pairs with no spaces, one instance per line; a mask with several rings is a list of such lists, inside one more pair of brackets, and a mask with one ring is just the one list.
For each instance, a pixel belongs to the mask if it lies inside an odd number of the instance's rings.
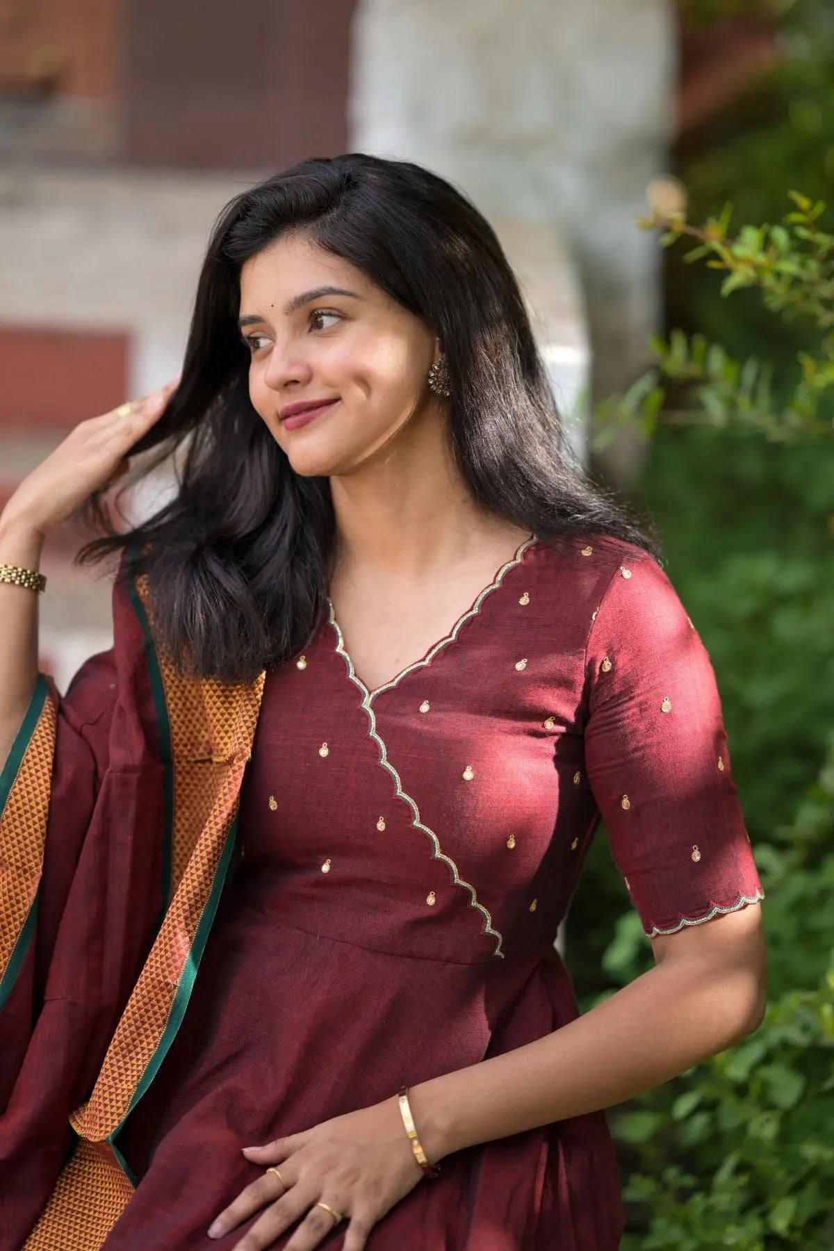
[[0,977],[9,966],[40,882],[56,716],[58,693],[50,684],[49,697],[0,813],[0,847],[4,848],[0,866]]

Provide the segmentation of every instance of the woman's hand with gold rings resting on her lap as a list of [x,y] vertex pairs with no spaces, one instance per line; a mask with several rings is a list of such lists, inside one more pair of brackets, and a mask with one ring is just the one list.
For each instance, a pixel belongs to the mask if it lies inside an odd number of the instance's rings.
[[319,1200],[349,1222],[343,1251],[363,1251],[374,1225],[423,1177],[396,1096],[243,1150],[264,1170],[279,1165],[286,1188],[274,1172],[264,1172],[220,1212],[210,1237],[223,1237],[265,1208],[233,1251],[261,1251],[301,1217],[285,1251],[311,1251],[335,1227],[330,1212],[315,1207]]

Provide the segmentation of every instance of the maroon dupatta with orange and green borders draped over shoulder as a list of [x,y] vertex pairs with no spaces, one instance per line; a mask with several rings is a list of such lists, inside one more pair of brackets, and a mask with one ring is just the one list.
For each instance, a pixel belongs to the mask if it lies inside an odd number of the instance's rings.
[[189,1002],[233,853],[265,673],[179,677],[125,562],[114,647],[40,676],[0,776],[0,1245],[101,1245],[118,1136]]

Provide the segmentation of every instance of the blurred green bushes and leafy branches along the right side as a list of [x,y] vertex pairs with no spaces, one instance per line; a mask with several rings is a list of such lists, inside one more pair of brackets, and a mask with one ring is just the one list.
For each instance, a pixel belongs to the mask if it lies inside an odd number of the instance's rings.
[[[675,329],[596,414],[596,445],[619,424],[650,439],[641,502],[715,667],[769,950],[761,1027],[610,1115],[625,1251],[834,1247],[834,236],[823,204],[791,199],[733,238],[728,210],[650,224],[698,240],[724,300],[753,293],[793,329],[793,373]],[[571,917],[586,909],[590,948],[589,892],[596,918],[621,914],[583,1010],[651,963],[610,864],[588,869]]]

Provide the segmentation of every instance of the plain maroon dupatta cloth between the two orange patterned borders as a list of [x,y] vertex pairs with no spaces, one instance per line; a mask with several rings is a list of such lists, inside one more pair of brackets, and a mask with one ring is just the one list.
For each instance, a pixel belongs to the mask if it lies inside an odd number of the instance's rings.
[[144,638],[114,588],[116,646],[60,701],[35,941],[0,1012],[0,1247],[49,1198],[163,906],[163,767]]

